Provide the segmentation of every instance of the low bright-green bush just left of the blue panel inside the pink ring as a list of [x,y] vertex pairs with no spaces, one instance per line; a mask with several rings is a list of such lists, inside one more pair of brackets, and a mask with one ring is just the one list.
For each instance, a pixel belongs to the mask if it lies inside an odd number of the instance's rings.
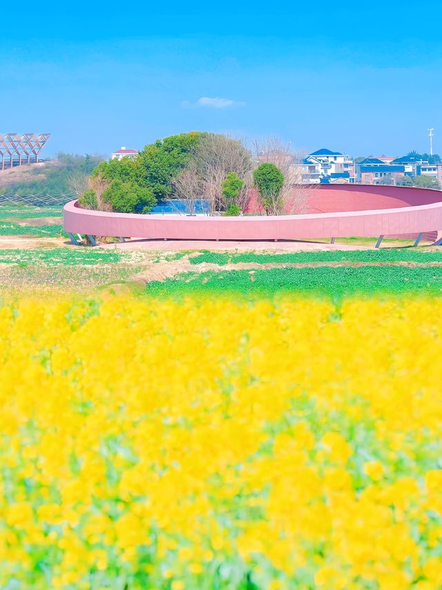
[[147,213],[157,202],[152,189],[118,178],[111,181],[102,198],[119,213]]

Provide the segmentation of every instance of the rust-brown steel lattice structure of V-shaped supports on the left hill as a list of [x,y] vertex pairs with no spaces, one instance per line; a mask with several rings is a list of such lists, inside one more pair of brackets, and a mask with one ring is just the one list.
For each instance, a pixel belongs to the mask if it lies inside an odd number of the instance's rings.
[[7,133],[0,135],[0,170],[6,170],[22,164],[35,164],[39,154],[50,138],[50,133]]

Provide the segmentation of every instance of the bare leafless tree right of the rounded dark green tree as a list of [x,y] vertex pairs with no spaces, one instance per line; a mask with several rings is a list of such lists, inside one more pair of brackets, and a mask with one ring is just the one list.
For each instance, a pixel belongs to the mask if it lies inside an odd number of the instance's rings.
[[305,183],[302,178],[302,160],[307,155],[305,149],[294,149],[276,136],[254,142],[256,165],[274,164],[284,176],[284,184],[279,194],[271,202],[273,215],[282,213],[301,214],[308,210],[309,196],[316,185]]

